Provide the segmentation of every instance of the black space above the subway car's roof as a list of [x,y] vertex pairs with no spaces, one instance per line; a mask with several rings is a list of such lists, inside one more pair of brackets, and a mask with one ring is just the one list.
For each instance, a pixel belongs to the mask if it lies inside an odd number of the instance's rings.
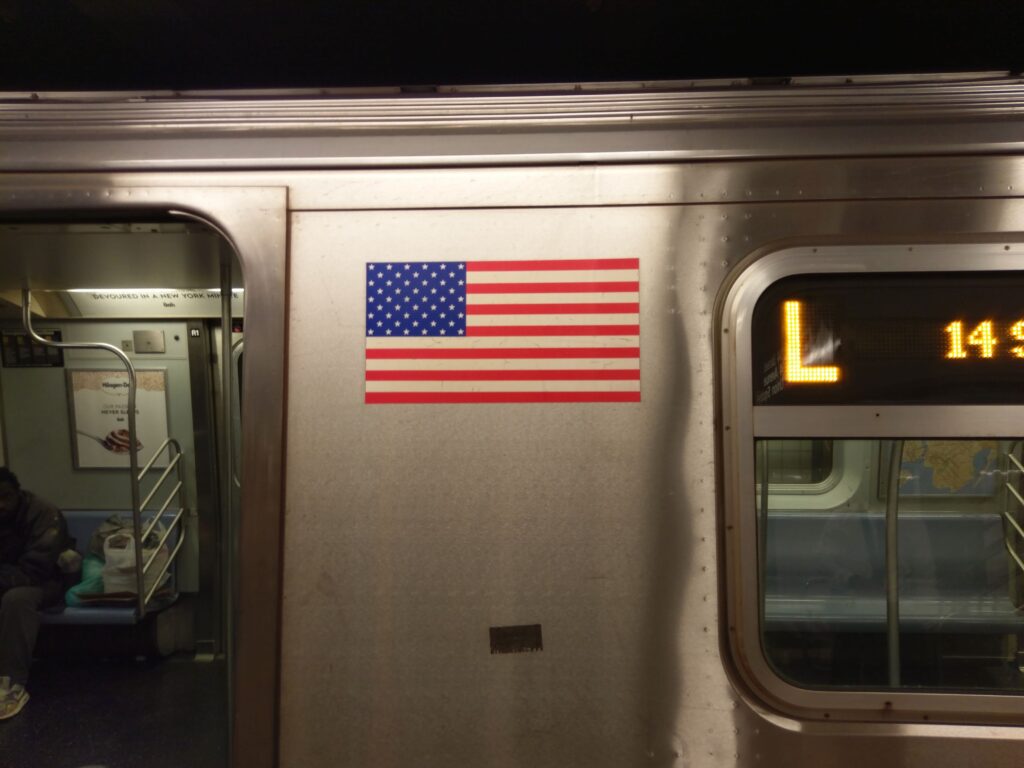
[[1024,68],[1018,0],[0,0],[0,90]]

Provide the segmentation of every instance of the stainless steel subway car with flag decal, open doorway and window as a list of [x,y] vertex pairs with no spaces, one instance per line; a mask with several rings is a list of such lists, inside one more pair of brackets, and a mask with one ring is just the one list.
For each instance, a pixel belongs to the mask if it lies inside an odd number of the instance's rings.
[[5,764],[1019,765],[1022,115],[3,94],[4,463],[166,570],[48,609]]

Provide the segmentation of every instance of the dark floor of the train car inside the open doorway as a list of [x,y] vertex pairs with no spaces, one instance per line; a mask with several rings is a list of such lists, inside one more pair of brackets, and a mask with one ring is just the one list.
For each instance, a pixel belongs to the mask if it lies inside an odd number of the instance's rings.
[[224,768],[222,660],[43,658],[0,722],[3,768]]

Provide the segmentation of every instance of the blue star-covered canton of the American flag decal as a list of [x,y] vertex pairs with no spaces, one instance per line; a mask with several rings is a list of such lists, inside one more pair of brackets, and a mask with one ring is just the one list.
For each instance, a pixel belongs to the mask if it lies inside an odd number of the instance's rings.
[[367,264],[367,336],[465,335],[465,262]]

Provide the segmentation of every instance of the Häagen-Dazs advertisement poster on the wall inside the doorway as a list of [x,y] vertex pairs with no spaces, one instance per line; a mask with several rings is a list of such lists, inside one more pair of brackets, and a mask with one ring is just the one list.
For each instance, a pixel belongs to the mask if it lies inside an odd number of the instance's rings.
[[[136,371],[135,425],[142,467],[167,439],[167,372]],[[68,371],[76,469],[127,469],[128,373]],[[167,465],[167,452],[155,466]]]

